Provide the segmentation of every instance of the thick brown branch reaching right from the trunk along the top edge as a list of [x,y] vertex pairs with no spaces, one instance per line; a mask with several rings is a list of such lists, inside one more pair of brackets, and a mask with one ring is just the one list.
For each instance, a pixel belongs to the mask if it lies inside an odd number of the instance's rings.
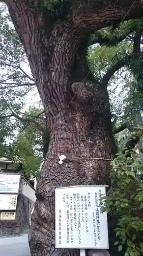
[[[96,15],[95,15],[96,13]],[[78,14],[78,16],[76,16]],[[76,24],[84,28],[99,29],[113,24],[120,23],[121,20],[140,18],[143,14],[142,1],[117,0],[117,1],[89,1],[85,6],[82,3],[74,11]],[[107,19],[107,15],[109,18]],[[100,17],[99,20],[97,20]],[[101,28],[100,27],[100,28]]]

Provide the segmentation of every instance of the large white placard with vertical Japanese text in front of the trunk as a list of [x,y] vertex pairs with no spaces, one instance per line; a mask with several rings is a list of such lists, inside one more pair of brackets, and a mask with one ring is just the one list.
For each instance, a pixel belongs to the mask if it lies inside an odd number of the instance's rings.
[[55,189],[55,247],[108,249],[107,213],[101,212],[105,186]]

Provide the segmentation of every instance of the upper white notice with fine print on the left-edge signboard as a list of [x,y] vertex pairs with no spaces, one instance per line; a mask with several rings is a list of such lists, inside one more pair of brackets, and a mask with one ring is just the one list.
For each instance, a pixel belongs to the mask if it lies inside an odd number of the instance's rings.
[[19,192],[19,174],[1,174],[0,173],[0,193],[18,193]]

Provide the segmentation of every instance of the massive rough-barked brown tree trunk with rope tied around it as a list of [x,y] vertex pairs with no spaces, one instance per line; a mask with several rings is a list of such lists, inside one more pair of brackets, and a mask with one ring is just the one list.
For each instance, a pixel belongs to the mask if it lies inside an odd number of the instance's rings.
[[[55,159],[89,157],[110,159],[115,144],[108,93],[89,75],[80,47],[94,30],[140,17],[141,1],[76,1],[63,20],[52,20],[46,9],[30,0],[6,0],[14,26],[43,102],[50,134],[49,150],[37,185],[32,219],[32,256],[77,255],[77,250],[54,248],[54,188],[76,184],[107,184],[109,161]],[[131,7],[131,8],[130,8]],[[50,29],[49,29],[50,28]]]

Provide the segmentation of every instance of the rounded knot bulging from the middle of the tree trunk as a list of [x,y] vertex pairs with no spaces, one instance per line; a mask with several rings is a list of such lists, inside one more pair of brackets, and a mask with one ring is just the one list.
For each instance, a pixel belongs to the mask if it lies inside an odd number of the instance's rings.
[[91,82],[74,82],[72,83],[72,92],[75,97],[82,102],[87,102],[93,96]]

